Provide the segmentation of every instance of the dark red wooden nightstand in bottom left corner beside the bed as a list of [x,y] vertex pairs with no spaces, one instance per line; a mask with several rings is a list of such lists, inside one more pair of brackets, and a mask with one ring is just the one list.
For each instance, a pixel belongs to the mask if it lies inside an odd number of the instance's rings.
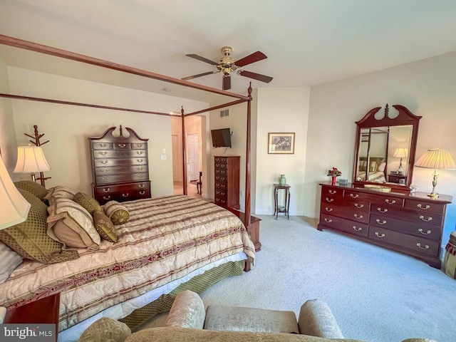
[[57,341],[59,306],[60,294],[53,294],[7,310],[3,323],[53,323],[56,325]]

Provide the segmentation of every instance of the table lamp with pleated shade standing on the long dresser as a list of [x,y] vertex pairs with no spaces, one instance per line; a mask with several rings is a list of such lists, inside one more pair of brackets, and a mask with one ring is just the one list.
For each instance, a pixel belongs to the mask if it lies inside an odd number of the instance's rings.
[[456,164],[453,158],[450,155],[450,152],[447,150],[440,150],[440,147],[435,148],[434,150],[427,150],[427,152],[415,162],[416,167],[425,167],[427,169],[434,169],[434,174],[432,175],[432,192],[427,196],[431,198],[439,197],[439,194],[435,192],[435,187],[437,186],[437,170],[455,170]]

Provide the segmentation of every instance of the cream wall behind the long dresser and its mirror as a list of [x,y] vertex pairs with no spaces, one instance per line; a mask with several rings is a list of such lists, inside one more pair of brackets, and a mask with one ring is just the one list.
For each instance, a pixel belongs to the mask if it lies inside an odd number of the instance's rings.
[[[320,187],[326,172],[338,167],[351,180],[356,124],[377,106],[405,105],[422,115],[417,157],[442,145],[456,158],[456,53],[408,63],[375,73],[311,88],[307,139],[304,214],[318,217]],[[391,109],[390,109],[391,110]],[[432,190],[432,170],[415,167],[418,191]],[[437,192],[456,197],[456,171],[440,170]],[[456,199],[456,198],[455,198]],[[447,207],[443,244],[455,229],[456,203]]]

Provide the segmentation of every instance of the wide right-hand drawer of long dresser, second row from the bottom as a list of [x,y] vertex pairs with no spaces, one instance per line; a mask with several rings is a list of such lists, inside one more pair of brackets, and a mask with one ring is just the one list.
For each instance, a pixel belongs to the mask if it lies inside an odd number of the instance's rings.
[[371,213],[369,224],[387,228],[395,232],[415,235],[415,237],[432,239],[437,242],[440,240],[440,236],[442,235],[442,229],[440,227],[435,227],[430,224],[417,224],[374,213]]

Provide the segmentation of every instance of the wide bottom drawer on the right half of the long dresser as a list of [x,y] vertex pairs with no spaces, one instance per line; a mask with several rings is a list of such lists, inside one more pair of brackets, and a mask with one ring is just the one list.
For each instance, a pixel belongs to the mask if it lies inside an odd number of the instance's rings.
[[434,257],[438,257],[440,248],[438,242],[415,237],[413,235],[402,234],[400,232],[393,232],[380,227],[371,226],[369,229],[369,237],[378,242],[395,244],[396,246],[411,249],[414,252],[432,255]]

